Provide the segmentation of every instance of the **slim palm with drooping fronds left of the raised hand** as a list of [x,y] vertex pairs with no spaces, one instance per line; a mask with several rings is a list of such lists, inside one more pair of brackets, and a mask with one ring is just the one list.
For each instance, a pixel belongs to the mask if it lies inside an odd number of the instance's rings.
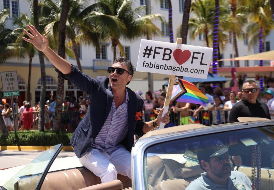
[[23,32],[24,29],[27,30],[26,25],[33,24],[33,17],[29,18],[27,14],[21,13],[20,17],[14,20],[13,25],[18,28],[13,30],[13,33],[16,34],[17,39],[15,43],[10,44],[6,48],[6,52],[10,54],[11,57],[17,58],[25,58],[27,55],[29,57],[29,76],[28,76],[28,85],[27,85],[27,101],[31,99],[31,66],[32,59],[35,55],[35,48],[31,43],[27,43],[22,37],[27,37],[27,35]]

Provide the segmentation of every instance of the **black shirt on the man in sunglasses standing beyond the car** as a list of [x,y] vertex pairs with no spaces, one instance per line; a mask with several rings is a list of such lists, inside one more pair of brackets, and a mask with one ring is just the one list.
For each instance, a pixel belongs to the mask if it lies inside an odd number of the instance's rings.
[[229,122],[238,122],[238,117],[262,117],[270,119],[269,109],[265,103],[256,100],[255,104],[243,99],[232,107],[229,114]]

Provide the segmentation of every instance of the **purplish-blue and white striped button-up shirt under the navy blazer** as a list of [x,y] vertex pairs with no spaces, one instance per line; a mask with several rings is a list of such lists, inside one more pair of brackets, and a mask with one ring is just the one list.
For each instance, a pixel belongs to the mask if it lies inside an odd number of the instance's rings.
[[126,100],[117,109],[114,100],[102,129],[95,138],[91,147],[106,152],[109,155],[113,151],[122,147],[120,144],[128,132],[128,92],[126,91]]

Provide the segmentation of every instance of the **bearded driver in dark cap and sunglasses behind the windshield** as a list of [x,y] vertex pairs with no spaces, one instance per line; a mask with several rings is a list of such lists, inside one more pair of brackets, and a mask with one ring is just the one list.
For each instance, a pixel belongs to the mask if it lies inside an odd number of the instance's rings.
[[190,183],[186,190],[251,190],[251,181],[240,171],[231,171],[228,148],[219,139],[206,140],[198,149],[200,167],[206,172],[201,173]]

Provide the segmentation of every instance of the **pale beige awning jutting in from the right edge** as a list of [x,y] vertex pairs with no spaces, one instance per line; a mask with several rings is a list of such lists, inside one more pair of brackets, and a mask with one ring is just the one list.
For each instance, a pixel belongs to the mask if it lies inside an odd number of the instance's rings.
[[274,50],[258,53],[258,54],[252,54],[248,56],[242,56],[242,57],[236,57],[236,58],[230,58],[230,59],[220,59],[218,61],[234,61],[234,60],[274,60]]

